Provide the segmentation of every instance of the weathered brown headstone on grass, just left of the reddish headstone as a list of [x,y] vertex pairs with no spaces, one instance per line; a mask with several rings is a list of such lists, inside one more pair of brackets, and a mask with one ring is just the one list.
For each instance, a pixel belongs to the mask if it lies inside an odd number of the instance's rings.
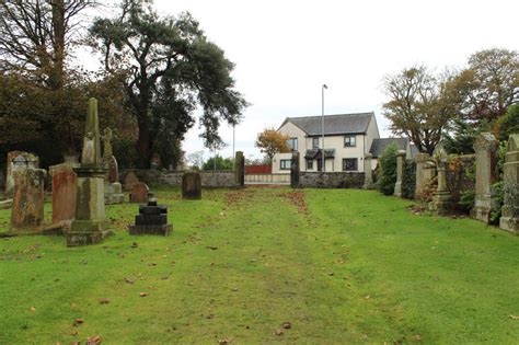
[[14,230],[36,228],[44,221],[43,169],[14,170],[14,195],[11,210],[11,228]]

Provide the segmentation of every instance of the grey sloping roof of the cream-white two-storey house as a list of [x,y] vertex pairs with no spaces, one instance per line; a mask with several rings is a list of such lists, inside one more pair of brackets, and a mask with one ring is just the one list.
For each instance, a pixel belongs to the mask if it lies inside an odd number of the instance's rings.
[[[368,131],[374,113],[324,115],[324,135],[361,134]],[[292,123],[309,136],[322,135],[322,116],[287,117],[281,124]]]

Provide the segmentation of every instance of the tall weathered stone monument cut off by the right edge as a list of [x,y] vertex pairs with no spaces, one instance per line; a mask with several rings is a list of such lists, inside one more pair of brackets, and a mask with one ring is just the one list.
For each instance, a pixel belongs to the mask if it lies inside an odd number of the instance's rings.
[[519,234],[519,134],[510,135],[503,164],[504,203],[499,228]]

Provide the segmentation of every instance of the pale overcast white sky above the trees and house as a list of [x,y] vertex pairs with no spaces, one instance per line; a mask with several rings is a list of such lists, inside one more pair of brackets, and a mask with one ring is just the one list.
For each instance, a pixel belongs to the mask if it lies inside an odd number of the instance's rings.
[[[237,90],[251,105],[235,128],[235,150],[254,147],[266,127],[286,117],[374,112],[382,137],[388,101],[382,80],[414,65],[462,68],[486,48],[519,50],[518,0],[155,0],[161,14],[188,11],[208,38],[235,64]],[[184,150],[204,150],[198,125]],[[232,156],[232,128],[222,124]],[[211,153],[207,149],[205,159]]]

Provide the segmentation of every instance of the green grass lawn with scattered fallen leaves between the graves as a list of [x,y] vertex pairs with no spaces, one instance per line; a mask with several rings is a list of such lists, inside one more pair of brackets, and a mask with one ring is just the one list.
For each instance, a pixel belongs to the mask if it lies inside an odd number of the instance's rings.
[[518,237],[367,191],[155,195],[166,238],[124,204],[100,245],[0,239],[0,344],[519,343]]

